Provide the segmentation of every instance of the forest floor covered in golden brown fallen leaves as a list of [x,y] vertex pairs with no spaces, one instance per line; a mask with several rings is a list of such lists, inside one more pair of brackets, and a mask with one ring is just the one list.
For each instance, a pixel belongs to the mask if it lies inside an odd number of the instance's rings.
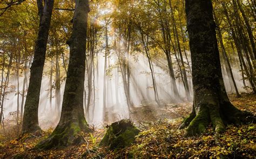
[[[256,96],[243,93],[241,98],[229,96],[240,110],[256,114]],[[200,136],[184,138],[184,130],[178,127],[190,113],[191,103],[166,105],[163,108],[142,106],[132,110],[131,119],[142,131],[135,142],[124,149],[109,150],[99,147],[104,128],[84,134],[84,143],[63,149],[32,149],[52,132],[48,129],[41,136],[18,136],[18,127],[9,127],[0,134],[0,158],[255,158],[256,125],[230,125],[220,135],[219,146],[215,145],[211,127]]]

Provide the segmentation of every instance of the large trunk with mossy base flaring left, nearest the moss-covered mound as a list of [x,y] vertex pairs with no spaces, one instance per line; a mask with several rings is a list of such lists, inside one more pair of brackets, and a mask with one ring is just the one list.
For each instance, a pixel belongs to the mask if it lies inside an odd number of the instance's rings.
[[60,121],[52,134],[37,144],[36,148],[50,149],[77,144],[84,140],[80,132],[90,132],[83,107],[88,12],[89,1],[77,0],[73,32],[67,41],[70,46],[70,60]]

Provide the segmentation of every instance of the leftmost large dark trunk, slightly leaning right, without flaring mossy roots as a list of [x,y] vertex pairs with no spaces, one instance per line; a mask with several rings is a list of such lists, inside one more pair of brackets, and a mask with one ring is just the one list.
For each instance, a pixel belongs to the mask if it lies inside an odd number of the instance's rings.
[[38,125],[38,104],[43,76],[46,44],[50,29],[53,0],[46,0],[44,2],[45,4],[43,7],[42,0],[38,0],[40,24],[35,46],[35,55],[33,58],[32,66],[30,68],[31,73],[29,79],[28,95],[26,96],[26,102],[24,106],[22,126],[23,133],[33,133],[41,129]]

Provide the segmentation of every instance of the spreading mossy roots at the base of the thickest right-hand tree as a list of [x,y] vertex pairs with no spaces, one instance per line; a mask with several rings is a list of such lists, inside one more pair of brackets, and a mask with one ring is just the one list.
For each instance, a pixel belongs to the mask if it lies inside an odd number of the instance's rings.
[[228,124],[242,125],[255,123],[256,121],[255,115],[250,112],[240,111],[231,103],[225,103],[219,109],[211,104],[200,106],[200,110],[196,115],[193,107],[192,113],[179,128],[187,127],[185,136],[194,136],[203,133],[206,127],[211,124],[215,134],[218,136],[218,134],[225,131],[225,126]]

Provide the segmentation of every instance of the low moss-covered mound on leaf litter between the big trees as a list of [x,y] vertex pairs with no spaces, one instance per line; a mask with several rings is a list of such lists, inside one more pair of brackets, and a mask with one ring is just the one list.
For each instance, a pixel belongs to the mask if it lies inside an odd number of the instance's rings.
[[120,120],[107,126],[107,131],[99,146],[109,146],[118,149],[130,146],[140,130],[130,120]]

